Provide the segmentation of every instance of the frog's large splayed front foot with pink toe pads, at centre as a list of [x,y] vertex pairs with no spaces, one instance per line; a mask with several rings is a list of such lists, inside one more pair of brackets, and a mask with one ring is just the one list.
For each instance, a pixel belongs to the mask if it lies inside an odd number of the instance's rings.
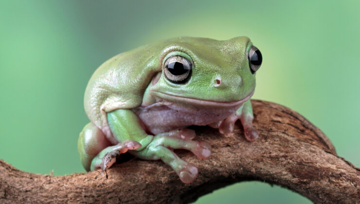
[[142,151],[131,151],[132,154],[142,159],[161,159],[169,165],[185,183],[193,182],[198,176],[198,168],[179,158],[172,150],[184,149],[194,153],[198,158],[208,158],[211,155],[211,145],[204,141],[193,141],[195,132],[189,129],[182,129],[162,133],[154,136],[151,143]]

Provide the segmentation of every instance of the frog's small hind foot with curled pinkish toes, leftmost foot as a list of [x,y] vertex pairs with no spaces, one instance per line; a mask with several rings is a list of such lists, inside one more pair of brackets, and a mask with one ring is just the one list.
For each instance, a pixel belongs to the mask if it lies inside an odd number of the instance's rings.
[[126,140],[114,146],[109,146],[98,153],[91,162],[91,170],[101,169],[102,173],[106,172],[116,161],[116,156],[126,153],[128,150],[136,150],[141,147],[137,141]]

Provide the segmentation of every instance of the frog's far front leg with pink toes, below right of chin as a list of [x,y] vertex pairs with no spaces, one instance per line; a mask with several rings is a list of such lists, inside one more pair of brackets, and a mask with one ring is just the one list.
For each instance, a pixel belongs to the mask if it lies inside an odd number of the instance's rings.
[[244,134],[247,140],[254,141],[259,136],[255,128],[252,126],[252,120],[254,119],[252,113],[251,101],[248,100],[232,115],[222,121],[219,125],[219,131],[221,134],[229,134],[234,131],[234,124],[237,119],[240,119],[241,124],[244,127]]

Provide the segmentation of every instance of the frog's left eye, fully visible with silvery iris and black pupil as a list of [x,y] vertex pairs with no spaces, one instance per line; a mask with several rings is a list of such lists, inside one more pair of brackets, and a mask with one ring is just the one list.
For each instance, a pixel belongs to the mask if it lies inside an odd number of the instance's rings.
[[185,83],[191,76],[191,62],[180,55],[170,56],[164,63],[164,73],[170,82]]

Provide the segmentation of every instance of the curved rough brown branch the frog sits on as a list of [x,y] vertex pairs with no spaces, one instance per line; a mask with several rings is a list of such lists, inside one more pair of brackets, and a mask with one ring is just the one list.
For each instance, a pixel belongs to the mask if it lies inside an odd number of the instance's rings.
[[360,203],[360,169],[337,156],[318,128],[281,105],[252,105],[260,134],[254,142],[245,141],[239,127],[227,136],[210,127],[195,127],[197,139],[212,144],[213,154],[200,160],[177,152],[198,166],[192,184],[182,184],[160,161],[133,159],[110,168],[106,179],[96,171],[39,175],[0,160],[0,203],[188,203],[244,180],[287,187],[315,203]]

